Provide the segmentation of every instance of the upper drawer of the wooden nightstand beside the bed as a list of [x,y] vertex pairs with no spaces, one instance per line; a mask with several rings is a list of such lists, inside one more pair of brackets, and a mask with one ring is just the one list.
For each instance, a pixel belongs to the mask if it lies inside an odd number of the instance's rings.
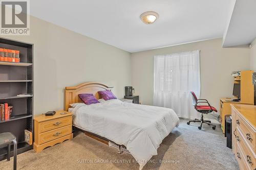
[[72,116],[66,116],[48,120],[46,122],[40,122],[38,125],[38,131],[39,133],[42,133],[68,125],[72,125]]

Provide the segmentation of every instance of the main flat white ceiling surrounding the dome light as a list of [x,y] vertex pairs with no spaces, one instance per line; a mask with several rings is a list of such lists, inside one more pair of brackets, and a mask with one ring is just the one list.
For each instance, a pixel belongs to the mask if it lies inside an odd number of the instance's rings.
[[[223,36],[231,0],[33,0],[31,15],[128,52]],[[159,19],[139,18],[155,11]]]

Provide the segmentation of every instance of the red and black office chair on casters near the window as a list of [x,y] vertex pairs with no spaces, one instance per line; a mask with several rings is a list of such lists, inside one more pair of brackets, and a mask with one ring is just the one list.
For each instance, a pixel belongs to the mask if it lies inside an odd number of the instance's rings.
[[[215,130],[216,125],[211,124],[211,122],[209,120],[204,120],[203,114],[208,114],[208,113],[211,113],[212,111],[217,112],[217,109],[215,107],[210,106],[209,102],[206,99],[197,99],[197,96],[193,91],[190,91],[190,93],[192,95],[194,108],[199,113],[201,113],[201,120],[199,120],[197,118],[195,118],[194,120],[189,120],[187,122],[187,125],[189,125],[190,122],[201,122],[201,125],[198,127],[198,129],[201,130],[203,123],[205,123],[205,124],[208,124],[208,125],[212,126],[212,129]],[[207,103],[208,105],[198,105],[198,104],[202,104],[202,103]]]

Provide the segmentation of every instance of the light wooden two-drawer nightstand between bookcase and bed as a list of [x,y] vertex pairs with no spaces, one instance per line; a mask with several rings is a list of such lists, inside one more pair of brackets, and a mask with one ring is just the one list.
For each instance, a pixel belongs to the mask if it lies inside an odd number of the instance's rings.
[[35,116],[35,152],[41,152],[47,147],[72,138],[72,113],[61,110],[56,111],[53,116],[45,116],[45,114]]

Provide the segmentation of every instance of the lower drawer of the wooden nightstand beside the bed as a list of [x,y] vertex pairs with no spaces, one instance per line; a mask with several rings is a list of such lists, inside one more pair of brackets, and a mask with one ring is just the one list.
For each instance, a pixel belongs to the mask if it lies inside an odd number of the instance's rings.
[[40,133],[39,134],[39,139],[38,139],[38,144],[46,143],[48,141],[57,139],[59,137],[68,135],[72,133],[72,125],[65,126],[62,128],[58,128],[55,130],[51,130],[48,132]]

